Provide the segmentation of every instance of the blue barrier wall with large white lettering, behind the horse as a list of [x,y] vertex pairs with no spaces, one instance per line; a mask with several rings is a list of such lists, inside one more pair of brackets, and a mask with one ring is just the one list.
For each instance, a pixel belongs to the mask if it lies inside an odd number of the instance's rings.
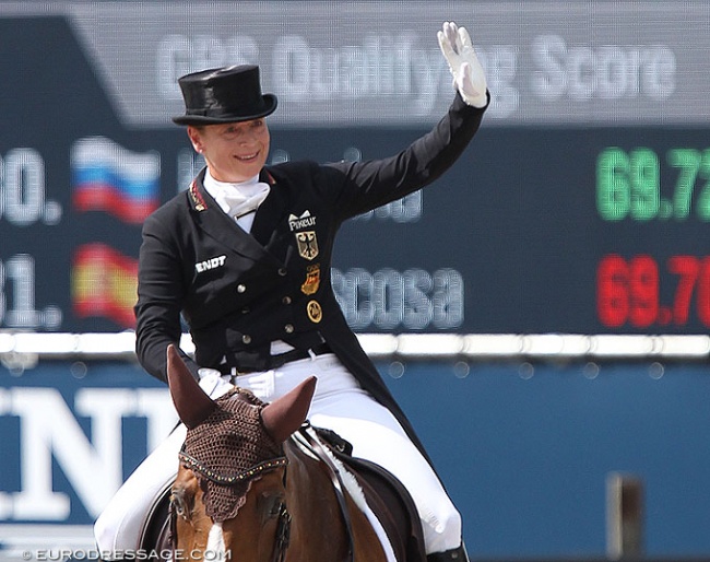
[[[472,557],[603,555],[614,471],[643,480],[647,554],[710,553],[705,365],[378,367],[463,513]],[[0,382],[0,535],[88,526],[174,422],[165,388],[130,363],[40,362]]]

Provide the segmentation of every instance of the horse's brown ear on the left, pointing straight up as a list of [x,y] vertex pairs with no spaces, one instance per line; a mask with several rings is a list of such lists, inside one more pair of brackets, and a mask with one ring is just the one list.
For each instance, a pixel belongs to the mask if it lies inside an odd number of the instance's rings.
[[167,383],[180,421],[189,430],[200,425],[216,408],[212,398],[200,388],[173,343],[167,347]]

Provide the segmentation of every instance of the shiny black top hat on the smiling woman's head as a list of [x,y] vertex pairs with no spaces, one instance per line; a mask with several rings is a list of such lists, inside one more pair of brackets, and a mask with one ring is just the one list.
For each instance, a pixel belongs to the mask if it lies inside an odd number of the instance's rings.
[[256,65],[202,70],[178,83],[185,98],[185,115],[173,118],[178,125],[248,121],[276,109],[276,96],[261,94]]

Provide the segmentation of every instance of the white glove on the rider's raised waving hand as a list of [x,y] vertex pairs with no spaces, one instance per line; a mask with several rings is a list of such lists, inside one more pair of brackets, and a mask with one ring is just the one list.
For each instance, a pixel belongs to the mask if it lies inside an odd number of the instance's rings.
[[473,50],[466,28],[459,27],[453,22],[443,22],[437,37],[453,77],[453,87],[459,91],[466,104],[478,108],[485,107],[487,103],[486,75],[478,57],[476,57],[476,51]]

